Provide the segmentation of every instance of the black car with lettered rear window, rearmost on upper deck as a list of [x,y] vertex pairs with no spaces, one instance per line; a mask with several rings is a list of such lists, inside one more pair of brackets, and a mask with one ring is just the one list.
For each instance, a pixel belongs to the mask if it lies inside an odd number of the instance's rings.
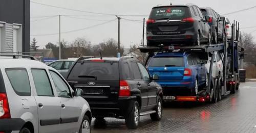
[[210,26],[195,5],[154,7],[146,23],[148,46],[210,43]]

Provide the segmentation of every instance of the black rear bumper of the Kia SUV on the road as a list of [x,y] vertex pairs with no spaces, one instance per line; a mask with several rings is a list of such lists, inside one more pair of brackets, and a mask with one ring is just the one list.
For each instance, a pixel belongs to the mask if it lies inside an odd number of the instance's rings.
[[117,102],[89,102],[93,117],[124,117],[132,111],[136,96],[119,97]]

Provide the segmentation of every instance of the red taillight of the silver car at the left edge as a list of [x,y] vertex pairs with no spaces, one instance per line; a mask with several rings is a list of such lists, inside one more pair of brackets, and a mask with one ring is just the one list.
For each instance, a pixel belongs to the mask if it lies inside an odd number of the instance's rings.
[[0,93],[0,119],[11,118],[7,95]]

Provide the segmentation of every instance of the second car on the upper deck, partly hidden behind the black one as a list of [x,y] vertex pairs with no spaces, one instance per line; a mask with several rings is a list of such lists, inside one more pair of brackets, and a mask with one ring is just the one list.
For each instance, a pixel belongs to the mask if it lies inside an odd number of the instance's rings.
[[221,17],[214,9],[211,9],[209,7],[201,8],[201,11],[204,16],[208,17],[207,21],[211,27],[212,35],[211,42],[214,44],[217,44],[218,41],[224,42],[224,38],[226,36],[225,25],[223,25],[223,23],[225,22],[223,21],[224,17]]

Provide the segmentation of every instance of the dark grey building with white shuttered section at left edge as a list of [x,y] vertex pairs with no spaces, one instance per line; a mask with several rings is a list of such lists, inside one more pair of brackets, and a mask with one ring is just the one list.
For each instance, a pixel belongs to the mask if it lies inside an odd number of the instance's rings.
[[0,51],[30,51],[30,0],[0,1]]

